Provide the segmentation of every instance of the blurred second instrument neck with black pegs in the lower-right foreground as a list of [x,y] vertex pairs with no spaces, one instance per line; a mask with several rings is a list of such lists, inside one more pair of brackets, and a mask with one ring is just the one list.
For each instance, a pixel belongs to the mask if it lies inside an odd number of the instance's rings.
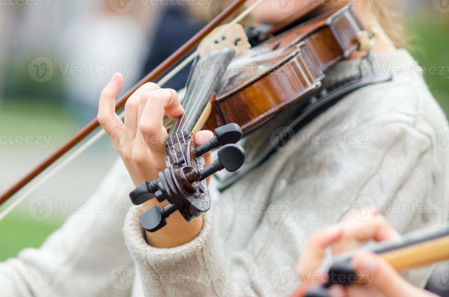
[[[421,266],[449,260],[449,228],[424,228],[410,232],[401,241],[386,240],[365,246],[379,254],[396,271],[403,272]],[[325,284],[308,291],[306,297],[327,297],[328,288],[333,284],[351,285],[357,283],[357,274],[351,266],[352,257],[357,253],[353,250],[338,255],[335,261],[326,268],[329,275]]]

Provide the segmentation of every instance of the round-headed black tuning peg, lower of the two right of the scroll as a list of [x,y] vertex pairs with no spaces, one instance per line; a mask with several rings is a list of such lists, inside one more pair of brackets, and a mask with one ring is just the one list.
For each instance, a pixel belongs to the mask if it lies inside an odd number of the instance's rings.
[[237,144],[226,144],[218,149],[217,155],[218,159],[200,171],[201,180],[222,169],[234,172],[245,161],[245,150]]

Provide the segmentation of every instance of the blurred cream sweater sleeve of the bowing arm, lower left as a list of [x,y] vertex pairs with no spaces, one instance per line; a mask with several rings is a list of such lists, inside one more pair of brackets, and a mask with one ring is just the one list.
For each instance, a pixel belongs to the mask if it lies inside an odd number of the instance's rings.
[[132,280],[118,281],[116,274],[132,266],[122,232],[130,189],[118,160],[97,192],[39,249],[0,262],[0,296],[129,297]]

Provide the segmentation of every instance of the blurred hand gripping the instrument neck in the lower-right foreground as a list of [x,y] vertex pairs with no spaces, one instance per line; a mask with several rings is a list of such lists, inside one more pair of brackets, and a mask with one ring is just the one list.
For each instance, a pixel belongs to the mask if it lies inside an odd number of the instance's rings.
[[[297,268],[299,278],[304,283],[296,289],[292,296],[305,296],[309,289],[321,285],[313,282],[314,279],[321,280],[321,275],[319,278],[313,276],[317,274],[328,247],[333,254],[338,254],[357,249],[368,240],[383,241],[400,237],[383,216],[374,212],[374,216],[370,220],[360,221],[357,219],[358,215],[357,213],[348,214],[342,222],[311,236]],[[357,254],[352,259],[352,266],[357,275],[364,275],[369,283],[349,287],[333,285],[329,290],[330,296],[436,296],[409,284],[392,266],[374,253],[363,251]]]

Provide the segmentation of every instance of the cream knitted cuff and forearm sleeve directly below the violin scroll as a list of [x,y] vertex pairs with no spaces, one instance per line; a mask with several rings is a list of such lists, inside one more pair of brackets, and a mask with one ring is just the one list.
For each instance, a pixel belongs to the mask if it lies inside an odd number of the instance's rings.
[[145,242],[141,215],[140,207],[131,208],[124,234],[140,274],[145,276],[141,278],[145,296],[238,296],[232,291],[234,282],[223,245],[213,236],[210,214],[204,215],[198,236],[171,249],[158,249]]

